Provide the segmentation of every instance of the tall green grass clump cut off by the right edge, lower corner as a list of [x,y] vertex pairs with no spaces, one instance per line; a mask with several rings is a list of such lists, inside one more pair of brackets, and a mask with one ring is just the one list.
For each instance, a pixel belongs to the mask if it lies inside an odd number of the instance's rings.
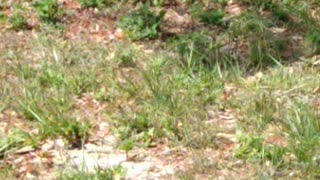
[[311,174],[319,163],[320,123],[319,117],[308,104],[296,102],[287,116],[281,121],[290,139],[290,149],[301,163],[302,168]]

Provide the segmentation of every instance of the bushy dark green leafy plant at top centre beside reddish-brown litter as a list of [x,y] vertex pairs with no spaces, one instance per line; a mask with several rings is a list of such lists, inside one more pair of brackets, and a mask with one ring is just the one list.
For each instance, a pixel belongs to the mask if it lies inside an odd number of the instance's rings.
[[132,40],[154,39],[160,36],[160,27],[165,11],[152,12],[149,5],[120,18],[117,25],[126,30]]

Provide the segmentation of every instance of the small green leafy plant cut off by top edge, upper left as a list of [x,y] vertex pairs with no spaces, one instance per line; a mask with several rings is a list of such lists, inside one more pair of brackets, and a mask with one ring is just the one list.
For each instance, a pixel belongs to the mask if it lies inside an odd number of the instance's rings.
[[63,12],[57,0],[38,0],[34,7],[39,18],[46,23],[57,23]]

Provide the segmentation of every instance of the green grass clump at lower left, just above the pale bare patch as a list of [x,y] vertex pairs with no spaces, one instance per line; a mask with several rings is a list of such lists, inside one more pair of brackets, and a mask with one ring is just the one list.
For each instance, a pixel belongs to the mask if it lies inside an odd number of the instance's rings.
[[[60,92],[61,93],[61,92]],[[37,96],[37,97],[35,97]],[[48,137],[63,137],[73,147],[81,147],[89,135],[90,125],[79,122],[68,113],[71,105],[67,97],[46,97],[40,92],[27,92],[24,102],[21,102],[20,111],[25,118],[38,124],[41,139]]]

